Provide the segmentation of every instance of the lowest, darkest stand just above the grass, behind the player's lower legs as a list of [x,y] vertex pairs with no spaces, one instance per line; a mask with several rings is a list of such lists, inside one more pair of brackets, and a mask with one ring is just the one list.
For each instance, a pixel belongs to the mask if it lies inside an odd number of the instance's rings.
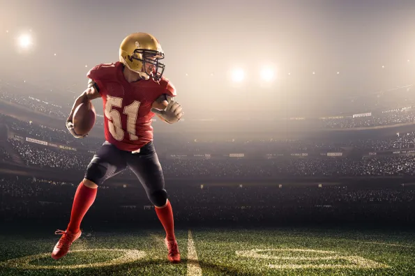
[[[45,179],[0,177],[0,221],[38,220],[68,223],[75,183]],[[144,189],[137,187],[98,188],[96,201],[86,221],[158,223]],[[167,184],[177,223],[193,225],[233,222],[281,225],[285,222],[405,222],[415,188],[388,185],[198,185]],[[111,204],[108,204],[111,202]],[[56,212],[59,209],[61,211]],[[60,225],[56,225],[58,227]]]

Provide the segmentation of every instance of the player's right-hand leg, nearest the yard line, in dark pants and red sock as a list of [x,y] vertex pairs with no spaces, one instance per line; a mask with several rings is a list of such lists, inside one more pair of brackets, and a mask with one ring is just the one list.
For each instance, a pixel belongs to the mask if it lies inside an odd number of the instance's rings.
[[180,261],[180,253],[174,236],[173,210],[167,199],[163,170],[153,143],[143,146],[140,153],[128,155],[127,164],[142,183],[147,197],[156,208],[158,219],[166,231],[165,242],[169,248],[169,260]]

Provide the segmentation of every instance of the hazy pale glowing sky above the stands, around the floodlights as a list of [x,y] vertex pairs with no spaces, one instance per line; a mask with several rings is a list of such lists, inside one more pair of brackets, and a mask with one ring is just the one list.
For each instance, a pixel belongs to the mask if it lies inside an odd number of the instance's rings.
[[[33,47],[22,52],[15,38],[29,30]],[[287,106],[312,109],[415,79],[414,0],[0,0],[0,79],[76,84],[81,93],[89,68],[117,61],[135,31],[160,40],[165,76],[186,105],[224,108],[238,98],[248,107],[281,102],[283,93]],[[257,76],[266,63],[278,74],[263,89]],[[229,86],[235,66],[248,75],[239,88]]]

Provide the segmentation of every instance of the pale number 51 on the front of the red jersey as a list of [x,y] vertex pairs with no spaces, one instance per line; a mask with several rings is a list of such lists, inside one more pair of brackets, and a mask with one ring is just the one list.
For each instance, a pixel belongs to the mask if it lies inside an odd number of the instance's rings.
[[[107,95],[107,103],[105,103],[105,117],[108,119],[108,129],[114,139],[122,141],[124,139],[124,130],[121,125],[121,114],[112,107],[122,107],[123,99]],[[137,140],[135,135],[135,122],[137,121],[139,102],[135,100],[131,105],[124,107],[123,114],[127,115],[127,132],[130,140]]]

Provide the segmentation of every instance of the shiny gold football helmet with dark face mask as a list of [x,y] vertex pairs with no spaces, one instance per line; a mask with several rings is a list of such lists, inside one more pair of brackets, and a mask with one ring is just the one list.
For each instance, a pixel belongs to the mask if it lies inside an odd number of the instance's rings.
[[[149,59],[153,56],[156,59]],[[139,73],[144,79],[150,77],[156,82],[161,79],[165,70],[165,65],[160,63],[160,59],[164,59],[165,54],[161,49],[158,40],[149,33],[131,33],[130,36],[124,38],[119,47],[119,61],[121,61],[128,69]],[[155,66],[153,72],[146,72],[146,63]],[[160,71],[159,71],[160,70]]]

